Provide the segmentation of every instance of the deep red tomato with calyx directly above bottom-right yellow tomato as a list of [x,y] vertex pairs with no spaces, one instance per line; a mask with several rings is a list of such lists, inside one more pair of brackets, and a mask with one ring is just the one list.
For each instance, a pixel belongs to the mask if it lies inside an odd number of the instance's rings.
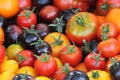
[[106,66],[104,57],[99,53],[90,53],[85,57],[85,66],[88,70],[99,69],[103,70]]

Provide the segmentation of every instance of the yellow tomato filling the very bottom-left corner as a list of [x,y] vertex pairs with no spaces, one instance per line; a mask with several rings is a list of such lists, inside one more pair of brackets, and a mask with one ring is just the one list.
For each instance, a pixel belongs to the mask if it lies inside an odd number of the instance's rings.
[[0,80],[13,80],[15,73],[5,71],[0,74]]

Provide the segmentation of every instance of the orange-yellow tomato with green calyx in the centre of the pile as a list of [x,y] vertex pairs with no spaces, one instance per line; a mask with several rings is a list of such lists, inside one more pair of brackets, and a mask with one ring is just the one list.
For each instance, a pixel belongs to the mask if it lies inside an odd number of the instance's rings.
[[53,32],[45,36],[43,39],[48,44],[50,44],[52,48],[52,56],[59,57],[59,52],[66,47],[68,44],[70,44],[68,38],[59,32]]

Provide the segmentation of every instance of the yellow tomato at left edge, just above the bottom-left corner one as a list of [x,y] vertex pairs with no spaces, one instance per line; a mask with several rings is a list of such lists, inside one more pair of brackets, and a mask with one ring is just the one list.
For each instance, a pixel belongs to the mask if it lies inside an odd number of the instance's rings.
[[9,71],[9,72],[16,73],[18,68],[19,68],[19,65],[15,60],[7,60],[1,64],[1,72]]

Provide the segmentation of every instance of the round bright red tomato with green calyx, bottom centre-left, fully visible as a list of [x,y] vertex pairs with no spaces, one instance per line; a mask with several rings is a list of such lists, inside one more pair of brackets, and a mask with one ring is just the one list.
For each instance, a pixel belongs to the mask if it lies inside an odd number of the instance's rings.
[[57,62],[52,56],[42,54],[35,60],[34,69],[40,76],[51,77],[57,70]]

